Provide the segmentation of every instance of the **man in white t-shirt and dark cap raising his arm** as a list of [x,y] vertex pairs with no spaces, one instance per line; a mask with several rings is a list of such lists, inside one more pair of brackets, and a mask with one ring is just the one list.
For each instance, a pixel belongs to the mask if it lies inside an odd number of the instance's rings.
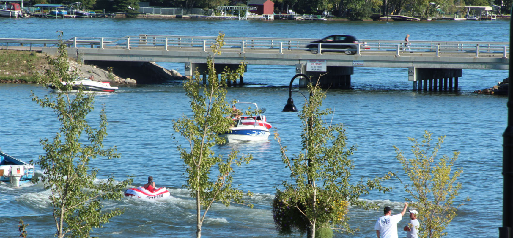
[[378,221],[376,221],[376,225],[374,225],[374,229],[376,229],[376,235],[378,238],[398,238],[397,224],[403,218],[404,213],[406,213],[407,207],[408,203],[404,203],[403,211],[393,216],[392,209],[390,207],[385,207],[385,209],[383,209],[383,213],[385,215],[380,217]]

